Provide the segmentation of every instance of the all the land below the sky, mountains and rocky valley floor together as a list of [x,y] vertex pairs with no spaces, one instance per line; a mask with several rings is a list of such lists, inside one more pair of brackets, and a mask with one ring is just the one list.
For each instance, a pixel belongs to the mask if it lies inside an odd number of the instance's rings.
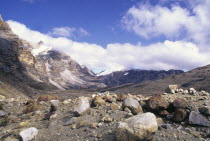
[[43,45],[0,18],[0,140],[210,140],[210,65],[95,74]]

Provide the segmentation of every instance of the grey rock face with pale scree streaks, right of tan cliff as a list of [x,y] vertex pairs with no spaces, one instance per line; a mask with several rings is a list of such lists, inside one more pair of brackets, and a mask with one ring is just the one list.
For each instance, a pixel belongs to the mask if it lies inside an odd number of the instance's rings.
[[37,58],[45,63],[50,83],[60,89],[105,87],[91,70],[79,65],[68,55],[51,50]]

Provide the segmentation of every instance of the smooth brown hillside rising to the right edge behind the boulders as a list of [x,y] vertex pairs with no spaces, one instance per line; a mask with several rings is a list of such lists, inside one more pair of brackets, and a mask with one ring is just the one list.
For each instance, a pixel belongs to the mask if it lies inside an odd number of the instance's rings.
[[116,93],[132,94],[160,94],[170,84],[177,84],[183,88],[193,87],[197,90],[210,92],[210,65],[199,67],[194,70],[168,76],[156,81],[146,81],[138,84],[121,85],[112,87],[110,90]]

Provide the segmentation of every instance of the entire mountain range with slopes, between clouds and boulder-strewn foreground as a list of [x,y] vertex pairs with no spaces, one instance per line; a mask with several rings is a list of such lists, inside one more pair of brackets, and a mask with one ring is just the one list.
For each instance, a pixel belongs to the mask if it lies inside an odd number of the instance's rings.
[[[115,92],[158,93],[168,84],[209,91],[210,67],[184,73],[182,70],[122,70],[97,75],[70,56],[57,50],[34,55],[43,46],[15,35],[0,18],[0,94],[34,95],[42,90],[111,90]],[[196,84],[195,84],[196,83]],[[198,85],[199,83],[199,85]]]

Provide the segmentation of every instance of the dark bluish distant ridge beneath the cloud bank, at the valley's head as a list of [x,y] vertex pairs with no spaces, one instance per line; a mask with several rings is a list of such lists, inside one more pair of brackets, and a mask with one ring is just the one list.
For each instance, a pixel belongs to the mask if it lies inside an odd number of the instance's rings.
[[102,81],[108,86],[118,86],[127,83],[141,83],[147,80],[158,80],[169,75],[181,74],[181,70],[153,71],[153,70],[128,70],[117,71],[101,76]]

